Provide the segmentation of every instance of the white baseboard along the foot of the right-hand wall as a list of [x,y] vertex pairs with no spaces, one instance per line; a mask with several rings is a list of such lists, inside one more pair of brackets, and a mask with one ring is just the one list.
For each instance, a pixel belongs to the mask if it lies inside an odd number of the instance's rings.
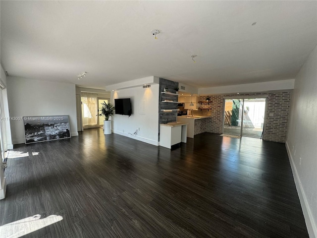
[[295,163],[293,160],[293,156],[292,156],[292,153],[291,153],[291,150],[288,146],[287,141],[285,142],[285,145],[286,145],[286,151],[288,154],[288,158],[289,158],[289,161],[291,164],[291,168],[293,171],[293,177],[294,177],[297,193],[299,196],[299,200],[301,202],[301,206],[302,206],[308,234],[311,238],[317,238],[317,226],[314,222],[313,214],[312,214],[312,211],[309,207],[309,203],[307,201],[305,191],[304,191],[304,188],[303,188],[302,183],[301,183],[301,179],[299,178],[299,175],[297,173],[296,166],[295,166]]

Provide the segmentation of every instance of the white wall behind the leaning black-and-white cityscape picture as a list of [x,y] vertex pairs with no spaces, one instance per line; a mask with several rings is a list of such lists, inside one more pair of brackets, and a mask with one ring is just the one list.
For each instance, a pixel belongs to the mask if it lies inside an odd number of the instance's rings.
[[[71,136],[78,135],[75,84],[7,78],[10,117],[68,115]],[[13,144],[24,143],[23,120],[11,120]]]

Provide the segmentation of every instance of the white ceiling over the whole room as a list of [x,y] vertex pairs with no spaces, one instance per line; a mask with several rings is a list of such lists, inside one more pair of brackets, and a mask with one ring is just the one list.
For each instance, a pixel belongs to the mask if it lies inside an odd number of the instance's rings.
[[0,8],[10,76],[92,88],[151,75],[196,87],[292,79],[317,44],[315,0],[1,0]]

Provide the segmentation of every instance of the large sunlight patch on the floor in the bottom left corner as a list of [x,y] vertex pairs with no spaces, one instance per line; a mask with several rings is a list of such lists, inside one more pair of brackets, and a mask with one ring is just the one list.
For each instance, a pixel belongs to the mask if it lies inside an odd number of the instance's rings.
[[41,219],[41,215],[37,214],[15,222],[11,222],[0,226],[0,237],[18,238],[50,226],[56,222],[63,220],[62,216],[51,215]]

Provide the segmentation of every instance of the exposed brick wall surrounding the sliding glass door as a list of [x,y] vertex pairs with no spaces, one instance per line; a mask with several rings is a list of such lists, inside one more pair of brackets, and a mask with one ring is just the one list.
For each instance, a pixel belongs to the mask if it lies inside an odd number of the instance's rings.
[[[228,94],[200,96],[199,101],[206,101],[206,97],[211,98],[210,105],[202,105],[201,107],[211,108],[211,119],[207,122],[207,132],[216,134],[222,133],[223,127],[223,98],[224,97],[264,97],[266,100],[266,112],[264,118],[263,139],[275,142],[285,142],[288,126],[289,107],[291,101],[291,92],[271,92],[271,93],[249,93],[249,94]],[[269,116],[273,114],[273,116]]]

